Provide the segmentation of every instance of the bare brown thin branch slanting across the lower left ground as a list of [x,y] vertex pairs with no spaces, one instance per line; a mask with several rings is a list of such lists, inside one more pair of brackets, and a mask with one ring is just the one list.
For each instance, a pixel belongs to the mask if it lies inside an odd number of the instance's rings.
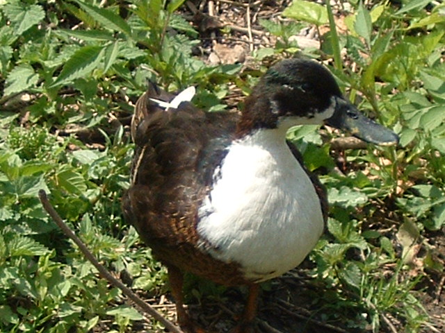
[[102,278],[105,278],[115,287],[118,287],[122,291],[122,293],[124,293],[124,295],[133,300],[133,302],[135,302],[136,305],[140,307],[140,309],[142,309],[145,313],[149,314],[149,316],[152,316],[154,319],[156,319],[156,321],[162,323],[165,326],[165,328],[170,330],[170,332],[184,333],[181,331],[181,329],[179,329],[179,327],[173,325],[173,323],[168,321],[168,319],[164,318],[151,305],[144,302],[144,300],[139,296],[137,296],[136,293],[133,293],[133,291],[131,291],[129,287],[120,282],[120,280],[114,278],[113,275],[111,275],[111,273],[104,266],[102,266],[102,264],[99,264],[96,257],[92,255],[92,253],[90,252],[90,250],[88,250],[83,241],[81,241],[81,239],[79,239],[79,237],[77,237],[76,234],[74,234],[74,232],[65,224],[65,222],[62,221],[56,210],[54,210],[54,207],[51,205],[51,203],[49,203],[47,194],[43,189],[40,189],[39,191],[39,199],[40,202],[42,203],[44,210],[47,211],[49,216],[51,216],[54,222],[56,222],[56,224],[63,231],[63,233],[66,234],[67,237],[70,237],[70,239],[72,239],[72,241],[74,241],[74,243],[76,243],[76,245],[79,246],[81,253],[83,253],[86,259],[88,259],[88,261],[90,261],[91,264],[93,264],[95,268],[97,268],[97,271],[99,271],[99,274],[102,276]]

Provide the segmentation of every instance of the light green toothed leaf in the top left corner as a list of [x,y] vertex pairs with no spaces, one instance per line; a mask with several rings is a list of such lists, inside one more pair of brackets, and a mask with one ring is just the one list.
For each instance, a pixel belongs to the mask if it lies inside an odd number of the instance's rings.
[[30,5],[25,1],[8,1],[3,11],[13,24],[13,33],[17,36],[44,19],[42,6]]

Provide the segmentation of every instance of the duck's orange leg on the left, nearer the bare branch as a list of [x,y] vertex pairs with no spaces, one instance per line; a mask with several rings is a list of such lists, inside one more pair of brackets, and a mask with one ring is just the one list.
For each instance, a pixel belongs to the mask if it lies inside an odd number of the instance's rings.
[[168,268],[168,280],[170,282],[170,288],[172,289],[172,295],[175,298],[176,313],[179,326],[186,333],[205,333],[200,327],[196,327],[188,316],[186,309],[184,309],[184,294],[182,293],[182,287],[184,285],[184,273],[176,266],[167,266]]

